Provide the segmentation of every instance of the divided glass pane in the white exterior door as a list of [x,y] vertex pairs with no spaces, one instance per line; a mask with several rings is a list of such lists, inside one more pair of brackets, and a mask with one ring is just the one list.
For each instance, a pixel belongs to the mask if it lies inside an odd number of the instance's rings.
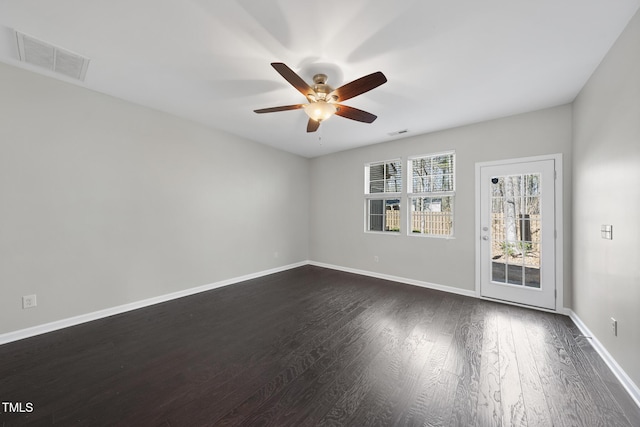
[[540,174],[493,177],[491,280],[540,288]]

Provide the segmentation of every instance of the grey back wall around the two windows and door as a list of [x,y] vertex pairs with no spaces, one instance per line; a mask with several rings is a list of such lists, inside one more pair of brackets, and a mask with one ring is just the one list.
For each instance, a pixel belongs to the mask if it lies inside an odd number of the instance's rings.
[[[475,163],[562,153],[570,194],[571,106],[419,135],[312,159],[311,259],[463,290],[475,286]],[[364,232],[364,164],[456,150],[455,239]],[[564,241],[570,242],[570,204]],[[374,255],[379,262],[374,262]],[[565,305],[570,244],[565,247]]]

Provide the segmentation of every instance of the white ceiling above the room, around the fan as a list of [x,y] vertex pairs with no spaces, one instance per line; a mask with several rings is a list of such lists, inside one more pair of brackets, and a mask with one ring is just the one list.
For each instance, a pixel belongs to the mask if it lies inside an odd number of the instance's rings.
[[[0,0],[0,61],[18,30],[90,58],[80,86],[306,157],[571,102],[640,0]],[[388,82],[306,133],[271,66],[338,87]],[[43,74],[53,75],[46,71]],[[65,77],[61,80],[71,81]]]

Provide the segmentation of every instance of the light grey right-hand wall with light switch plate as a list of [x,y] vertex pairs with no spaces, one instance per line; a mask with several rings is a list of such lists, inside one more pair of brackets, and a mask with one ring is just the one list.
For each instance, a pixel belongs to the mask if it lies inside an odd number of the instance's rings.
[[574,120],[573,309],[640,384],[640,13],[580,92]]

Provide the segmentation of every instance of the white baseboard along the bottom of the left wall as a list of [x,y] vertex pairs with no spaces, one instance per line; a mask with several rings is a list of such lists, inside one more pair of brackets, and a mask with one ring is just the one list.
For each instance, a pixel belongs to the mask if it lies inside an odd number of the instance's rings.
[[208,285],[203,285],[195,288],[185,289],[182,291],[172,292],[170,294],[147,298],[144,300],[123,304],[116,307],[110,307],[104,310],[94,311],[92,313],[86,313],[86,314],[81,314],[79,316],[69,317],[62,320],[56,320],[54,322],[32,326],[30,328],[20,329],[18,331],[7,332],[4,334],[0,334],[0,345],[7,344],[13,341],[18,341],[25,338],[30,338],[40,334],[45,334],[47,332],[57,331],[59,329],[79,325],[81,323],[91,322],[93,320],[102,319],[102,318],[113,316],[116,314],[137,310],[139,308],[148,307],[154,304],[159,304],[161,302],[167,302],[177,298],[198,294],[200,292],[210,291],[212,289],[221,288],[223,286],[233,285],[235,283],[244,282],[245,280],[251,280],[258,277],[267,276],[269,274],[291,270],[292,268],[302,267],[307,264],[309,264],[308,261],[301,261],[295,264],[284,265],[282,267],[276,267],[269,270],[263,270],[256,273],[246,274],[244,276],[221,280],[219,282],[210,283]]

